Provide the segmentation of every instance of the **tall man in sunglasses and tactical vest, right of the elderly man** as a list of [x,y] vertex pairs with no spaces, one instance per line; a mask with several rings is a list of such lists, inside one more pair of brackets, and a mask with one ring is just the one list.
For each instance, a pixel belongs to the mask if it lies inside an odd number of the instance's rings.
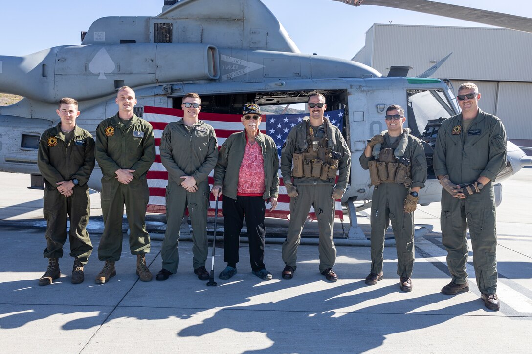
[[310,117],[290,130],[281,150],[281,175],[290,197],[290,223],[282,244],[285,262],[282,277],[292,279],[294,275],[303,224],[314,206],[319,228],[320,273],[335,282],[338,276],[332,269],[336,262],[332,237],[334,204],[347,187],[351,151],[340,130],[323,116],[327,109],[325,97],[313,94],[308,105]]

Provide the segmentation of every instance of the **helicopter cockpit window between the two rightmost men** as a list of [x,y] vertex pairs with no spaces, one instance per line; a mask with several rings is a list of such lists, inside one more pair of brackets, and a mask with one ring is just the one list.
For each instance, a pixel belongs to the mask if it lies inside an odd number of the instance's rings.
[[453,108],[444,92],[436,90],[407,90],[408,127],[420,137],[430,119],[448,118],[454,115]]

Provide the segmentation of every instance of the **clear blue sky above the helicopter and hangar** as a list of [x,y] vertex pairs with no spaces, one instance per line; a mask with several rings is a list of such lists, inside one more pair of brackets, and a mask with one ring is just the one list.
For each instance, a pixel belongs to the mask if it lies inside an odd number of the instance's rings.
[[[210,0],[223,1],[223,0]],[[439,0],[484,10],[532,17],[528,0]],[[24,55],[61,45],[80,44],[80,32],[104,16],[155,16],[163,0],[29,0],[0,6],[0,55]],[[483,25],[380,6],[347,6],[329,0],[263,0],[303,53],[351,59],[373,23],[432,26]],[[474,40],[461,38],[458,40]]]

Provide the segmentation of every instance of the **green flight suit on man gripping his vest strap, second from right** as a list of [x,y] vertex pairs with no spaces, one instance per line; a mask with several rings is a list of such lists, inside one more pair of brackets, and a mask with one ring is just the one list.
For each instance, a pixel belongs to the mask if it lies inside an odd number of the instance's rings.
[[[384,134],[383,148],[397,148],[399,140],[389,144],[388,133]],[[412,184],[410,188],[395,182],[380,183],[371,197],[371,273],[380,274],[384,263],[384,237],[392,222],[397,250],[397,275],[410,278],[414,268],[414,213],[404,212],[404,200],[412,187],[425,187],[427,159],[421,141],[408,134],[408,142],[402,157],[410,160]],[[359,158],[360,165],[368,170],[368,162],[375,157]]]

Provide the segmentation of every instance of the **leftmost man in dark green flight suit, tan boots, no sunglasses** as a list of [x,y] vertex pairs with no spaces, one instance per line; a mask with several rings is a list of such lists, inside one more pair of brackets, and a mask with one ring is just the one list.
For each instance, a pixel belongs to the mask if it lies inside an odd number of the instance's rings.
[[43,133],[37,155],[37,165],[45,181],[43,212],[47,246],[43,254],[48,258],[48,269],[40,277],[39,285],[52,284],[61,276],[59,258],[63,257],[69,216],[73,284],[84,281],[83,267],[93,251],[86,226],[90,216],[87,181],[94,169],[94,139],[76,124],[80,112],[75,99],[61,98],[56,112],[61,122]]

